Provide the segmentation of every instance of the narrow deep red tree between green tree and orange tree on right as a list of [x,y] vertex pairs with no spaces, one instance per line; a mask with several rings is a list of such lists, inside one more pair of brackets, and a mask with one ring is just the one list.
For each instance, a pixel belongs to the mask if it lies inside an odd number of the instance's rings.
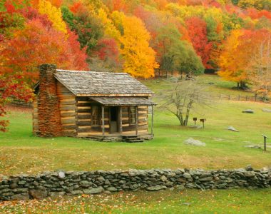
[[206,22],[198,17],[192,17],[187,19],[185,24],[196,53],[201,57],[205,68],[210,68],[208,61],[210,60],[212,43],[208,42]]

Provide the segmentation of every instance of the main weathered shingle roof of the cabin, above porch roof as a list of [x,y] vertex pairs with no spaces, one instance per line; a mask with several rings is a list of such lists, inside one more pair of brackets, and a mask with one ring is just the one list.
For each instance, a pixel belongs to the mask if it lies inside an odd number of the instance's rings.
[[151,96],[143,83],[128,73],[56,70],[56,79],[76,96]]

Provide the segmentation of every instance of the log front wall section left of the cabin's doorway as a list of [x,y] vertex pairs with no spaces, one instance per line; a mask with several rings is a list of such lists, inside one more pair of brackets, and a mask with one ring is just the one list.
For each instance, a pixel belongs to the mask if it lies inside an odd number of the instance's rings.
[[[77,97],[78,112],[78,137],[88,137],[91,135],[101,135],[102,126],[92,126],[91,106],[97,105],[101,111],[101,104],[91,101],[88,97]],[[104,109],[105,134],[109,133],[109,113],[108,107]]]

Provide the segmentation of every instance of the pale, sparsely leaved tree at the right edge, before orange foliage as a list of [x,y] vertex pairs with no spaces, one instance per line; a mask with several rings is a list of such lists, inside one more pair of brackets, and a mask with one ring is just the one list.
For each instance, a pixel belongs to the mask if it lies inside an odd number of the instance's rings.
[[266,100],[271,93],[271,37],[268,36],[252,54],[248,65],[249,78],[257,94]]

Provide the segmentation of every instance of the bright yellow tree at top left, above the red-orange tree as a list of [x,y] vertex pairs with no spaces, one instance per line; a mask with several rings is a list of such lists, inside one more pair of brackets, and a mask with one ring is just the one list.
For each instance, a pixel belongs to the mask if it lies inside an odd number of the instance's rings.
[[61,9],[57,9],[50,1],[39,0],[39,12],[46,14],[48,19],[53,23],[53,28],[67,33],[66,24],[62,19]]

